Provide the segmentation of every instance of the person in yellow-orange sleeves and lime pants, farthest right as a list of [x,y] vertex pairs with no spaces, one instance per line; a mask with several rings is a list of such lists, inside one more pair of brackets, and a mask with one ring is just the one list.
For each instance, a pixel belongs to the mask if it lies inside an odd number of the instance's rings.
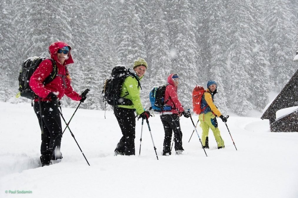
[[203,148],[208,148],[208,133],[209,128],[213,131],[213,135],[217,142],[217,148],[224,148],[224,140],[221,137],[218,129],[216,117],[220,117],[223,122],[227,121],[227,117],[224,117],[221,112],[213,103],[213,97],[217,93],[217,84],[215,81],[208,81],[207,90],[204,92],[201,100],[201,114],[199,115],[200,127],[202,128],[202,144]]

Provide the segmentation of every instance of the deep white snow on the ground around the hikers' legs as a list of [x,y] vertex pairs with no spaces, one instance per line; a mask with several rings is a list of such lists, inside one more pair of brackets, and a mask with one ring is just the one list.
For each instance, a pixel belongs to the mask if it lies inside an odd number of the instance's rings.
[[[66,130],[62,162],[41,167],[41,135],[31,104],[0,103],[0,109],[0,197],[298,197],[298,133],[271,133],[268,120],[230,116],[227,125],[238,150],[218,120],[226,147],[218,150],[210,131],[206,157],[196,133],[188,143],[193,125],[181,117],[184,154],[162,156],[164,131],[156,115],[149,122],[157,160],[146,122],[141,155],[114,156],[121,132],[113,112],[105,119],[104,111],[78,109],[69,127],[90,166]],[[74,111],[62,109],[67,121]],[[200,127],[198,133],[201,137]],[[137,154],[140,134],[141,120]]]

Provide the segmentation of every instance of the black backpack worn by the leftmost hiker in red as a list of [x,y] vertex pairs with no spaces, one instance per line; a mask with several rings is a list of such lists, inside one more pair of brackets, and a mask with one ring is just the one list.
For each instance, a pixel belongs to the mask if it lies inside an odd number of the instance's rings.
[[[19,80],[18,90],[20,91],[20,95],[22,97],[29,98],[31,100],[33,100],[36,97],[35,93],[32,91],[31,87],[29,86],[29,81],[33,72],[37,69],[39,64],[45,59],[50,59],[50,58],[33,56],[25,60],[24,63],[22,64],[21,72],[18,78]],[[50,73],[50,75],[46,77],[46,79],[44,80],[43,82],[44,85],[50,83],[58,73],[55,61],[53,59],[50,59],[50,60],[52,61],[53,70]]]

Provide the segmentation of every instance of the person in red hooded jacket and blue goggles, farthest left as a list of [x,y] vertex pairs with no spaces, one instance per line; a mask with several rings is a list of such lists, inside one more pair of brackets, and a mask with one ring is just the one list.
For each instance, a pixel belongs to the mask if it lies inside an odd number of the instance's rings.
[[[58,73],[48,84],[43,81],[53,71],[50,59],[41,62],[32,74],[29,85],[37,97],[34,100],[34,110],[42,128],[41,133],[41,164],[49,165],[61,161],[60,144],[62,138],[62,126],[58,109],[58,99],[63,95],[72,100],[84,101],[86,97],[81,97],[75,92],[71,85],[71,78],[66,65],[73,63],[70,54],[71,47],[63,42],[52,43],[49,46],[51,58],[55,61]],[[41,120],[42,119],[42,120]]]

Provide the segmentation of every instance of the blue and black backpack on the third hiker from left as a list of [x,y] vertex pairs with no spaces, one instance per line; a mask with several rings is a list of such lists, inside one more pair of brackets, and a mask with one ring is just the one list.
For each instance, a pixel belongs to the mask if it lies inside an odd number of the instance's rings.
[[167,103],[167,101],[169,101],[170,98],[164,101],[164,94],[165,94],[166,87],[168,85],[169,85],[168,83],[159,85],[159,86],[153,87],[153,89],[150,91],[149,93],[149,99],[151,103],[150,110],[152,109],[153,111],[156,111],[156,112],[162,112],[162,111],[170,111],[172,109],[171,106],[165,105],[165,103]]

